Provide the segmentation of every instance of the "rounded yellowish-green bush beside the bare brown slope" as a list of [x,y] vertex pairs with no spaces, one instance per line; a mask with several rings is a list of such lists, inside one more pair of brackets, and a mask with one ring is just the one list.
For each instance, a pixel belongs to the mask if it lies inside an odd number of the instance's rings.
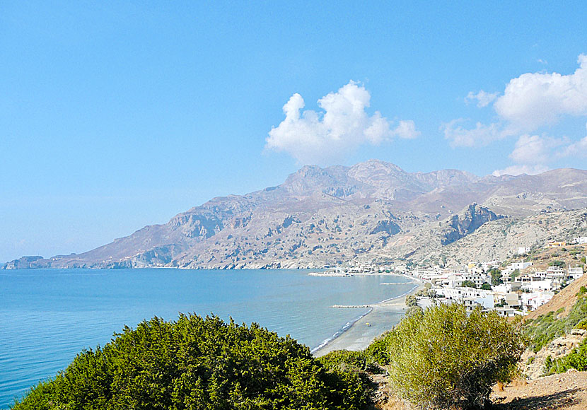
[[496,312],[438,305],[405,317],[386,336],[390,380],[422,409],[486,404],[491,387],[516,372],[525,348],[518,327]]

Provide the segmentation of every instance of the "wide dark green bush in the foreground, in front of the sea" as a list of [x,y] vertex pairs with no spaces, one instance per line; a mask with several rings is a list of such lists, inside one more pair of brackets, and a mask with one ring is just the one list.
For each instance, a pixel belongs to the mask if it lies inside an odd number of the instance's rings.
[[362,409],[364,380],[252,324],[181,315],[81,352],[13,409]]

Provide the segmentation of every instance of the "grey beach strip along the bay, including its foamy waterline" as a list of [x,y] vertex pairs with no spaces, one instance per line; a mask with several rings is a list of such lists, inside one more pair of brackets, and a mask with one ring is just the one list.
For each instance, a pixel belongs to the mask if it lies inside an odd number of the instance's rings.
[[[424,281],[422,281],[422,279],[407,275],[402,276],[412,279],[412,283],[414,283],[412,289],[402,295],[370,304],[370,308],[367,312],[364,312],[344,324],[339,331],[328,339],[322,341],[322,343],[313,348],[310,353],[315,357],[320,357],[331,351],[337,350],[364,350],[364,348],[371,344],[373,339],[390,330],[393,325],[386,324],[382,326],[379,324],[378,326],[373,326],[373,324],[390,322],[390,319],[397,320],[395,323],[397,324],[405,312],[405,300],[407,295],[412,295],[424,288]],[[374,323],[371,324],[371,321]]]

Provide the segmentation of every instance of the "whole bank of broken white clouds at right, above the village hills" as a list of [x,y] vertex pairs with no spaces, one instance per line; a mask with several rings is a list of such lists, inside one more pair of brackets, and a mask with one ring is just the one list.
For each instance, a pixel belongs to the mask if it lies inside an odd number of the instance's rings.
[[[546,64],[546,61],[540,61]],[[572,141],[554,138],[552,127],[566,117],[587,116],[587,55],[578,58],[574,73],[525,73],[512,78],[504,92],[470,92],[465,102],[477,107],[492,105],[497,115],[489,124],[454,119],[442,124],[441,130],[451,146],[487,146],[494,141],[518,136],[509,154],[513,165],[496,170],[494,175],[536,174],[550,169],[562,158],[587,157],[587,137]],[[587,124],[586,124],[587,125]],[[550,129],[547,129],[550,127]],[[530,134],[540,131],[542,134]]]

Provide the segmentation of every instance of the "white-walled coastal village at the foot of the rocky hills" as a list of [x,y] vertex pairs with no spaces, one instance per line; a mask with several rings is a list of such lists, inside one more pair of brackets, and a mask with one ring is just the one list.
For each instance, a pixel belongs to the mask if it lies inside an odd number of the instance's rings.
[[[470,262],[460,268],[351,264],[326,271],[325,276],[393,273],[422,281],[424,288],[407,296],[407,306],[461,303],[467,310],[496,310],[504,317],[528,315],[585,274],[587,237],[572,242],[550,241],[544,247],[518,247],[507,261]],[[560,259],[557,259],[560,258]]]

